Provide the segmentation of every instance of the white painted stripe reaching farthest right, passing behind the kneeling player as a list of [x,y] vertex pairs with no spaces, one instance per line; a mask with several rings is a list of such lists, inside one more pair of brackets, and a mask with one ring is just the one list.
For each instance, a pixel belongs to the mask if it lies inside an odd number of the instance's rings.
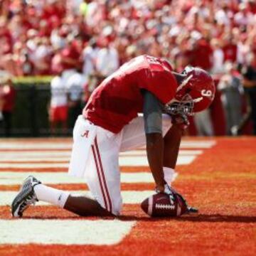
[[[186,149],[208,149],[215,144],[215,141],[182,141],[181,148]],[[71,149],[71,142],[1,142],[0,149]]]

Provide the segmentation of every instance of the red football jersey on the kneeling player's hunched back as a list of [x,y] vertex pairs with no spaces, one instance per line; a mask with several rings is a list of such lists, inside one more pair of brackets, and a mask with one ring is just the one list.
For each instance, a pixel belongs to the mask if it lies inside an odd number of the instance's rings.
[[142,112],[143,89],[164,104],[174,98],[178,85],[171,70],[166,60],[149,55],[124,63],[92,92],[84,117],[110,132],[120,132]]

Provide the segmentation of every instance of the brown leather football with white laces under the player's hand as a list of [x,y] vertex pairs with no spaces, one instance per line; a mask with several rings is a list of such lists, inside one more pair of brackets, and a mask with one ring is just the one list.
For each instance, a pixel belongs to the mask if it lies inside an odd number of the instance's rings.
[[156,193],[146,198],[141,204],[144,213],[151,217],[175,217],[186,213],[186,203],[178,195],[174,200],[166,193]]

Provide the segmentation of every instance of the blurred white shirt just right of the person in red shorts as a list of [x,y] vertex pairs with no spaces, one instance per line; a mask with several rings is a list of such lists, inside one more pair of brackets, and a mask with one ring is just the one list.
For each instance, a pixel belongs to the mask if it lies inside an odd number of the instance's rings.
[[70,96],[70,100],[78,101],[82,98],[82,92],[85,90],[85,87],[88,85],[87,75],[82,73],[74,73],[68,78],[65,83],[66,90]]

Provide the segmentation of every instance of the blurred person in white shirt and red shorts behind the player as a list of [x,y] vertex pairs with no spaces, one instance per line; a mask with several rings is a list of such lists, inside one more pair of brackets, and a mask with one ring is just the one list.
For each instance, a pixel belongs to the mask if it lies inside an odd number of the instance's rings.
[[50,107],[49,121],[51,134],[57,134],[58,124],[62,128],[62,134],[67,132],[68,122],[68,96],[65,83],[60,75],[56,75],[50,82]]

